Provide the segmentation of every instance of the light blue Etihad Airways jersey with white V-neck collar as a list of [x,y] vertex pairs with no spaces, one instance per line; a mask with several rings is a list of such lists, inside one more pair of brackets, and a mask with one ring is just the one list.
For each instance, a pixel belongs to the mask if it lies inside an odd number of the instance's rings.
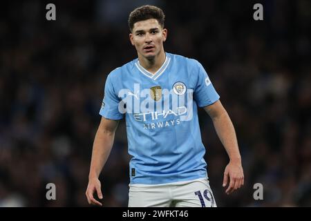
[[166,184],[207,177],[198,106],[219,99],[202,65],[166,53],[155,73],[138,59],[106,79],[100,115],[126,116],[131,184]]

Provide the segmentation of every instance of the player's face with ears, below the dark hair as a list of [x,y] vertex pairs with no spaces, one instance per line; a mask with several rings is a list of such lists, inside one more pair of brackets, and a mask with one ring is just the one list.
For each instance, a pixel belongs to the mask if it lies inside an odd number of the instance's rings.
[[167,39],[167,29],[162,28],[157,19],[138,21],[134,23],[129,37],[138,54],[151,59],[164,50],[163,42]]

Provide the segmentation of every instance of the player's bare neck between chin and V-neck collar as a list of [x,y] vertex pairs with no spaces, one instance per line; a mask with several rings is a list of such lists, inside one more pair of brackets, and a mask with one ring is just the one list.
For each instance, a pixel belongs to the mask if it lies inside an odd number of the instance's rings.
[[153,74],[156,73],[157,70],[159,70],[159,68],[161,68],[162,64],[165,61],[165,58],[166,58],[166,55],[165,55],[164,50],[162,50],[162,52],[160,52],[158,55],[156,55],[152,59],[147,59],[145,57],[138,55],[140,65],[144,69],[148,70],[149,72]]

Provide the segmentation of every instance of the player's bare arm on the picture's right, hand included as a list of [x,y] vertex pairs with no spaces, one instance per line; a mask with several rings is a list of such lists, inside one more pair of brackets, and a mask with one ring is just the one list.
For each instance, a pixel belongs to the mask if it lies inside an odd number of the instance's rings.
[[241,155],[238,150],[236,132],[234,131],[232,121],[220,100],[214,104],[205,106],[204,109],[211,117],[216,133],[229,155],[230,161],[225,168],[223,186],[227,186],[229,182],[226,193],[230,194],[244,184],[244,174]]

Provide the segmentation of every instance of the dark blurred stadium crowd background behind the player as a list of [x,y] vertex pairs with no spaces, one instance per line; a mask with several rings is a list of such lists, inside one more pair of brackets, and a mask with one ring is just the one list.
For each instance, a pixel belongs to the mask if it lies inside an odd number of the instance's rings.
[[[56,21],[46,21],[55,3]],[[3,1],[0,19],[0,206],[88,206],[93,138],[106,76],[136,57],[127,18],[155,4],[167,52],[198,59],[234,122],[245,186],[225,195],[225,149],[200,110],[218,206],[311,206],[311,2]],[[262,3],[264,20],[252,6]],[[126,206],[124,120],[100,180],[104,206]],[[57,200],[46,200],[46,184]],[[264,200],[253,199],[263,184]]]

